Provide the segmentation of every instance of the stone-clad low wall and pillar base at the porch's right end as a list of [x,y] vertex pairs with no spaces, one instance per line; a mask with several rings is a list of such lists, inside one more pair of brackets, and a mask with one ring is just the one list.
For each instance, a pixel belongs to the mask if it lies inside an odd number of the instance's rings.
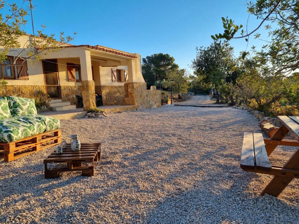
[[161,91],[155,86],[147,90],[145,82],[129,82],[125,90],[127,105],[135,105],[137,109],[161,107]]

